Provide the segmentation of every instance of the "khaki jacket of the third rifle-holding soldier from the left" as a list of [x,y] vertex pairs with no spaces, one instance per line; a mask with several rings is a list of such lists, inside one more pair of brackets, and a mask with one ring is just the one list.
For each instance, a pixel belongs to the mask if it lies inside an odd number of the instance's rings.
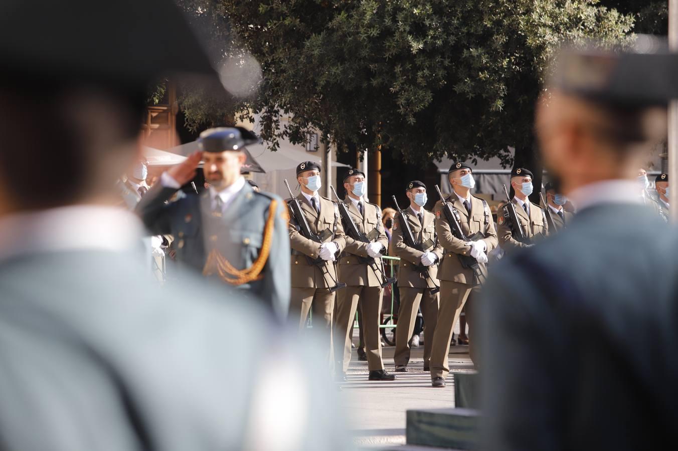
[[[393,218],[393,232],[391,232],[391,254],[400,257],[398,265],[398,286],[412,286],[413,288],[434,288],[433,281],[437,279],[438,264],[443,259],[445,251],[443,246],[438,242],[438,237],[435,234],[435,215],[430,211],[422,210],[424,213],[424,224],[419,222],[419,218],[414,211],[407,207],[403,211],[405,221],[410,224],[414,241],[416,244],[422,244],[431,240],[431,246],[428,246],[424,251],[414,249],[414,247],[407,246],[407,241],[403,236],[403,227],[401,226],[401,213],[397,213]],[[421,264],[421,257],[424,252],[433,252],[438,261],[431,266],[428,266],[428,275],[419,272],[415,265]]]

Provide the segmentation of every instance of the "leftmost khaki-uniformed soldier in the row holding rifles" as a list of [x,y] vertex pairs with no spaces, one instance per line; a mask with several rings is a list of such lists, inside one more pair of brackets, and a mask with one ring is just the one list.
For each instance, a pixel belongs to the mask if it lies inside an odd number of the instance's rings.
[[[313,328],[323,330],[317,337],[324,337],[323,346],[327,349],[327,362],[332,360],[332,315],[335,293],[330,288],[336,286],[337,274],[335,261],[346,246],[344,228],[339,218],[336,203],[320,196],[320,166],[312,161],[300,163],[296,169],[297,181],[301,192],[297,196],[311,232],[316,234],[322,244],[305,238],[299,232],[290,208],[290,246],[292,260],[292,294],[290,297],[290,317],[299,319],[303,328],[308,312],[313,308]],[[289,207],[290,199],[287,200]],[[308,257],[308,258],[307,258]],[[320,257],[325,261],[322,267],[313,264]],[[296,318],[295,318],[296,316]]]

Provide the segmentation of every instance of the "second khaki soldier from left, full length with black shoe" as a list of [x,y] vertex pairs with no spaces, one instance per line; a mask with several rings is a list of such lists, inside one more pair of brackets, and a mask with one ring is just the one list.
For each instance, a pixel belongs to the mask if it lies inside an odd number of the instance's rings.
[[[395,376],[384,370],[379,328],[383,291],[381,284],[384,274],[376,268],[382,269],[381,257],[388,248],[381,209],[378,205],[365,202],[363,196],[367,187],[365,174],[361,171],[357,169],[348,171],[344,178],[344,188],[346,189],[344,204],[358,230],[365,234],[370,242],[356,241],[346,232],[346,249],[339,261],[339,278],[347,286],[338,293],[335,321],[337,378],[345,379],[348,362],[351,362],[351,325],[360,303],[370,381],[393,381]],[[365,263],[363,259],[368,257],[375,259],[376,263]]]

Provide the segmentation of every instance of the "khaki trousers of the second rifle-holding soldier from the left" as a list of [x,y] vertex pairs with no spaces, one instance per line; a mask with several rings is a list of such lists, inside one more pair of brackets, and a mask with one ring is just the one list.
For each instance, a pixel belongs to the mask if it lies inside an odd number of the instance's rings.
[[[370,371],[383,370],[381,358],[381,306],[382,288],[380,286],[347,286],[338,292],[336,320],[334,328],[334,361],[342,371],[348,370],[351,362],[351,326],[355,320],[355,311],[360,303],[363,314],[363,333],[365,334],[365,353]],[[342,347],[342,343],[344,346]]]

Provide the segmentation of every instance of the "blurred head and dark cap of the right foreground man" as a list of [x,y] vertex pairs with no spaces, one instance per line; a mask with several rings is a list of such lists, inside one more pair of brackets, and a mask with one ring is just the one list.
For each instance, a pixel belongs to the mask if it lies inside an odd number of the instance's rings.
[[[643,37],[645,43],[648,37]],[[666,103],[678,97],[678,58],[641,51],[566,50],[539,101],[544,165],[563,194],[607,179],[634,179],[666,135]]]

